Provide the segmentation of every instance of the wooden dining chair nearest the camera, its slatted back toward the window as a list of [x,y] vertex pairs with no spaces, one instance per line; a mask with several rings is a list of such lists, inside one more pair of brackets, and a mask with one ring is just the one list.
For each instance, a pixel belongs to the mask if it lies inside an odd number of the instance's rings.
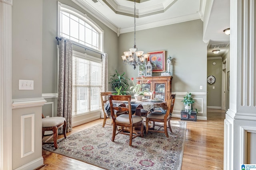
[[[128,107],[126,106],[113,106],[113,101],[128,101]],[[143,118],[140,116],[132,115],[132,107],[131,107],[131,96],[130,95],[109,95],[109,102],[110,102],[110,111],[111,116],[113,119],[113,134],[112,134],[112,141],[115,140],[117,134],[124,134],[130,136],[130,143],[129,145],[132,146],[132,139],[141,136],[144,137],[144,124]],[[126,111],[128,114],[122,114],[118,117],[115,116],[114,111]],[[117,127],[120,126],[120,129]],[[127,127],[129,130],[124,129]],[[140,132],[134,133],[134,128],[140,127]],[[116,133],[116,131],[118,131]]]

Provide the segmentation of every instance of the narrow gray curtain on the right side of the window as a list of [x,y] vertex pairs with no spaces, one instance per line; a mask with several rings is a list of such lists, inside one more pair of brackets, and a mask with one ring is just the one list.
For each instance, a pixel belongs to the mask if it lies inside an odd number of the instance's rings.
[[[108,54],[102,55],[102,92],[108,92]],[[104,112],[101,111],[101,118],[104,118]]]

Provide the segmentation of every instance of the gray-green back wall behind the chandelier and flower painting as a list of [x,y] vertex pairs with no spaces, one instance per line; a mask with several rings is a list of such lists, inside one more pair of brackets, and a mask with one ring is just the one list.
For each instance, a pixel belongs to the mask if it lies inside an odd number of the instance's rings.
[[[189,28],[189,29],[188,29]],[[136,31],[139,51],[166,51],[166,58],[173,57],[174,74],[172,91],[206,92],[206,44],[202,41],[201,20],[187,21],[162,27]],[[123,65],[121,55],[133,46],[134,32],[119,36],[118,70],[127,72],[128,77],[138,76],[138,68]],[[111,68],[109,68],[111,69]],[[153,73],[158,76],[160,73]],[[204,86],[199,90],[199,86]]]

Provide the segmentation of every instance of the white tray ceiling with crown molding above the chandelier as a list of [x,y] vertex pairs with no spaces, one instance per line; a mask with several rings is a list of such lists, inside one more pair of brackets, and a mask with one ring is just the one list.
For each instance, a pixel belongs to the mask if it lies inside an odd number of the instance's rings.
[[[133,0],[72,0],[118,35],[134,31]],[[138,3],[137,3],[138,2]],[[230,0],[136,0],[136,30],[201,19],[208,57],[219,57],[229,47],[209,49],[211,44],[229,43],[223,30],[230,26]]]

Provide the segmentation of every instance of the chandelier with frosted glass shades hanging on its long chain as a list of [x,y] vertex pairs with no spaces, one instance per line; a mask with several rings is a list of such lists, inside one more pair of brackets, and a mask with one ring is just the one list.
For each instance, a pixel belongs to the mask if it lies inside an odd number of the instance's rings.
[[130,51],[125,51],[122,55],[123,64],[129,64],[135,69],[136,66],[142,66],[148,64],[149,54],[143,54],[144,51],[138,51],[136,47],[135,37],[136,37],[136,24],[135,24],[135,0],[134,0],[134,46],[129,49]]

